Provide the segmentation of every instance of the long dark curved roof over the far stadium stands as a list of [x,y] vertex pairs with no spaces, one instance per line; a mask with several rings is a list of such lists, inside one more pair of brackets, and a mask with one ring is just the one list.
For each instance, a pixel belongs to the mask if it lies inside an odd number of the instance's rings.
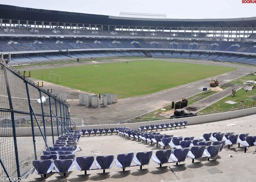
[[255,27],[256,17],[234,19],[146,19],[94,15],[0,4],[1,19],[144,27]]

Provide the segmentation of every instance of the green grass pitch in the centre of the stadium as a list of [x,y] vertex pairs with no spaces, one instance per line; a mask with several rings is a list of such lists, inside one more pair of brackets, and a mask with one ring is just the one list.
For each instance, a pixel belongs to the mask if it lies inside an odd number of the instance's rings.
[[236,69],[202,64],[138,60],[128,63],[102,63],[34,70],[31,71],[31,76],[35,79],[57,83],[57,76],[51,76],[49,80],[49,74],[61,75],[61,83],[58,84],[63,86],[95,94],[113,93],[118,94],[118,98],[125,98],[151,94]]

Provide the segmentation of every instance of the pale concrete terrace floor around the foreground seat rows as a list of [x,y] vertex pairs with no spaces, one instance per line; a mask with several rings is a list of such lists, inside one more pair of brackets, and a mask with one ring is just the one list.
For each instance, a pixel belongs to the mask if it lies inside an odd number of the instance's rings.
[[[249,133],[249,136],[253,136],[256,135],[255,118],[256,114],[218,122],[188,125],[185,128],[158,131],[161,134],[173,134],[176,137],[194,136],[195,139],[202,137],[207,132],[220,131],[235,132],[236,134]],[[94,155],[91,151],[97,151],[97,153],[101,153],[99,155],[114,155],[115,159],[118,154],[122,153],[134,152],[136,154],[139,151],[152,150],[155,152],[163,149],[163,147],[121,137],[119,134],[82,136],[79,146],[82,151],[75,153],[76,157],[96,157],[97,155]],[[41,178],[39,175],[32,173],[23,181],[255,181],[255,147],[249,147],[247,153],[244,153],[244,147],[238,147],[238,145],[231,146],[230,149],[227,149],[227,147],[227,145],[223,147],[217,160],[210,159],[210,161],[207,161],[204,158],[192,163],[192,159],[187,158],[185,162],[179,165],[169,163],[159,167],[151,159],[150,164],[143,166],[142,170],[139,170],[139,166],[135,166],[122,171],[114,164],[104,174],[102,170],[91,170],[87,171],[87,175],[84,175],[83,171],[78,171],[74,166],[72,172],[67,176],[53,173],[48,174],[48,178]],[[166,149],[169,149],[169,147]],[[135,165],[134,162],[133,165]],[[96,169],[95,165],[94,169]],[[212,171],[217,172],[217,174],[211,174]]]

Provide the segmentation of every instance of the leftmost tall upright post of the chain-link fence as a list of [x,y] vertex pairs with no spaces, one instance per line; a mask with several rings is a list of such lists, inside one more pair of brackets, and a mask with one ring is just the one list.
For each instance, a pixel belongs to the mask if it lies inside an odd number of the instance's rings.
[[7,78],[7,70],[5,64],[3,65],[4,68],[4,79],[6,84],[6,90],[8,94],[9,105],[11,109],[11,118],[12,118],[12,134],[14,140],[14,153],[15,153],[15,160],[16,160],[16,167],[17,167],[17,177],[20,177],[20,169],[19,169],[19,155],[18,155],[18,146],[17,146],[17,138],[16,138],[16,128],[15,128],[15,120],[14,120],[14,108],[12,106],[12,98],[11,98],[11,91],[9,87],[9,82]]

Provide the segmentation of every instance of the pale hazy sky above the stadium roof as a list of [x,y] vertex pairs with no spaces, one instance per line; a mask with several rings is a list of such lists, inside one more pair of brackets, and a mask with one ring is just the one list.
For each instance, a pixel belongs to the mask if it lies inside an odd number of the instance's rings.
[[242,0],[1,0],[0,4],[112,16],[122,11],[165,13],[171,19],[256,16],[256,4]]

